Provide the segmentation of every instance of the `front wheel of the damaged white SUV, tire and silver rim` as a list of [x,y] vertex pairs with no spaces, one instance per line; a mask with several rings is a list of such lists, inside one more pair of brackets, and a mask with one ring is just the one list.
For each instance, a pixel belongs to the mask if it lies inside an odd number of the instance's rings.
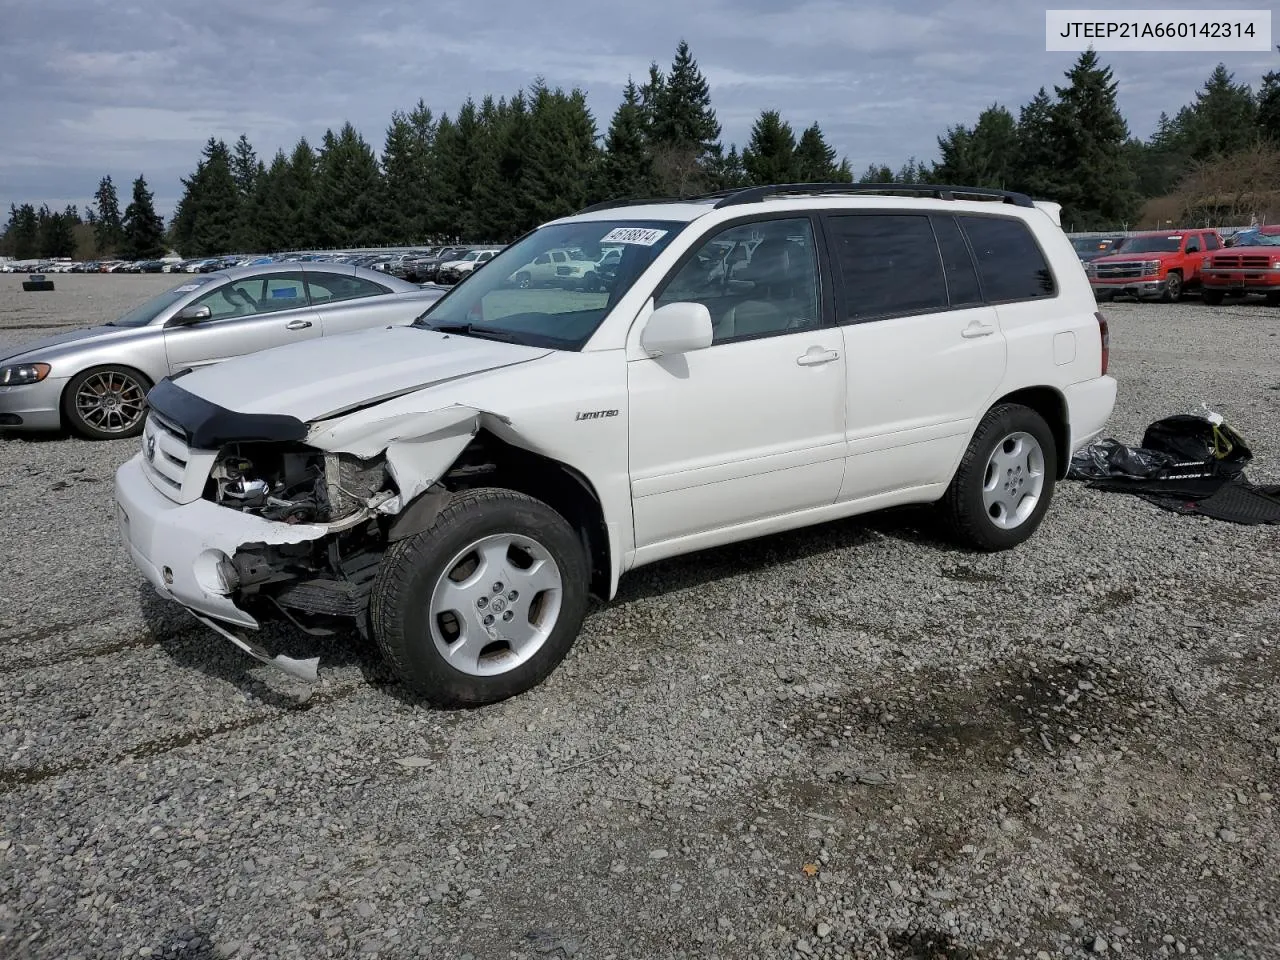
[[372,632],[428,703],[497,703],[538,686],[564,659],[589,582],[586,550],[559,513],[513,490],[467,490],[387,550]]

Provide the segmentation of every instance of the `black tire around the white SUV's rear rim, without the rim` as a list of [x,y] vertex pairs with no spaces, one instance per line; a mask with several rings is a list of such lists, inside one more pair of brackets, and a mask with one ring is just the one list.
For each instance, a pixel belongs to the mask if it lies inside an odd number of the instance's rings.
[[[1002,527],[988,512],[983,486],[997,447],[1014,434],[1028,434],[1039,445],[1043,485],[1034,508],[1016,526]],[[938,506],[959,544],[978,550],[1007,550],[1027,541],[1039,527],[1053,499],[1056,479],[1057,448],[1044,417],[1020,403],[1001,403],[982,419]]]

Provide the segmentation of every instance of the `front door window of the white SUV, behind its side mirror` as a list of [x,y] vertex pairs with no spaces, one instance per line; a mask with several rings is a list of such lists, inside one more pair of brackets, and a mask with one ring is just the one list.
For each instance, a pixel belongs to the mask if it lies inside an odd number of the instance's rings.
[[[728,253],[735,248],[746,259],[732,266]],[[712,315],[712,342],[724,343],[818,326],[818,289],[809,219],[758,220],[708,237],[658,291],[654,306],[704,305]]]

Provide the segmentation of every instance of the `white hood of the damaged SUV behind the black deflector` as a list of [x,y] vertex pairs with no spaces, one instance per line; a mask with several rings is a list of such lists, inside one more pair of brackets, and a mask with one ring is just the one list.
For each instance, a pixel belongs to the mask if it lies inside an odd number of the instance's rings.
[[550,353],[475,337],[390,326],[265,349],[179,375],[188,393],[241,413],[303,422]]

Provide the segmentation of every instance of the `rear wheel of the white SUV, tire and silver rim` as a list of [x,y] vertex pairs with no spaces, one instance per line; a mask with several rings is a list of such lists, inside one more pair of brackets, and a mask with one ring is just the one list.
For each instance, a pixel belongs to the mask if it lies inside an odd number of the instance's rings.
[[1007,550],[1039,527],[1056,476],[1048,424],[1030,407],[1002,403],[982,419],[940,507],[961,544]]

